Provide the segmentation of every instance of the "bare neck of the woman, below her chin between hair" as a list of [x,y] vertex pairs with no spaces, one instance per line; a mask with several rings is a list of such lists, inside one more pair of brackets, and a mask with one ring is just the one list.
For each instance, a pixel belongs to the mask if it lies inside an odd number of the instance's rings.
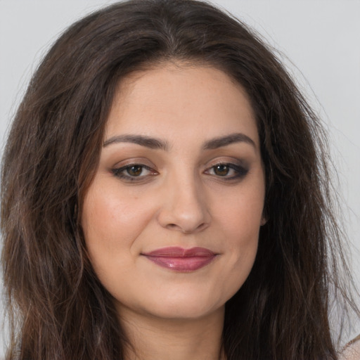
[[224,309],[200,319],[158,319],[123,309],[120,314],[131,347],[126,360],[224,360]]

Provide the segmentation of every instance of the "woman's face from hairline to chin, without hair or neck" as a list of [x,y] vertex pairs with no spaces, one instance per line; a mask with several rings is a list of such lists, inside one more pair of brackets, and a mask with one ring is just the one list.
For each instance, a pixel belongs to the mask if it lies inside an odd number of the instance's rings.
[[82,215],[119,313],[221,309],[254,263],[264,188],[252,108],[224,72],[168,64],[123,79]]

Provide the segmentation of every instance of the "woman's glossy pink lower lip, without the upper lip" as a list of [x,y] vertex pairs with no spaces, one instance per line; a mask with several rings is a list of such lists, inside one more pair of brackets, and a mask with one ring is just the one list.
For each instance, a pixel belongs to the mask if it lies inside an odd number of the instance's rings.
[[207,264],[210,264],[210,262],[212,262],[212,260],[215,258],[215,255],[211,257],[158,257],[146,255],[146,257],[150,261],[155,262],[155,264],[165,267],[167,269],[174,271],[190,272],[201,269]]

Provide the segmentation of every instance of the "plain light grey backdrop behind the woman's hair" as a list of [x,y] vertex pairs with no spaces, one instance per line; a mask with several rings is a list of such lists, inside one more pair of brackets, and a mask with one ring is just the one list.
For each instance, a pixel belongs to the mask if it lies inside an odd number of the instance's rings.
[[[1,153],[11,118],[39,59],[68,25],[113,2],[0,0]],[[360,0],[211,2],[254,27],[283,54],[288,70],[321,115],[338,172],[343,200],[339,215],[354,244],[353,271],[360,285]],[[2,308],[0,301],[0,319]],[[0,358],[4,336],[0,330]]]

